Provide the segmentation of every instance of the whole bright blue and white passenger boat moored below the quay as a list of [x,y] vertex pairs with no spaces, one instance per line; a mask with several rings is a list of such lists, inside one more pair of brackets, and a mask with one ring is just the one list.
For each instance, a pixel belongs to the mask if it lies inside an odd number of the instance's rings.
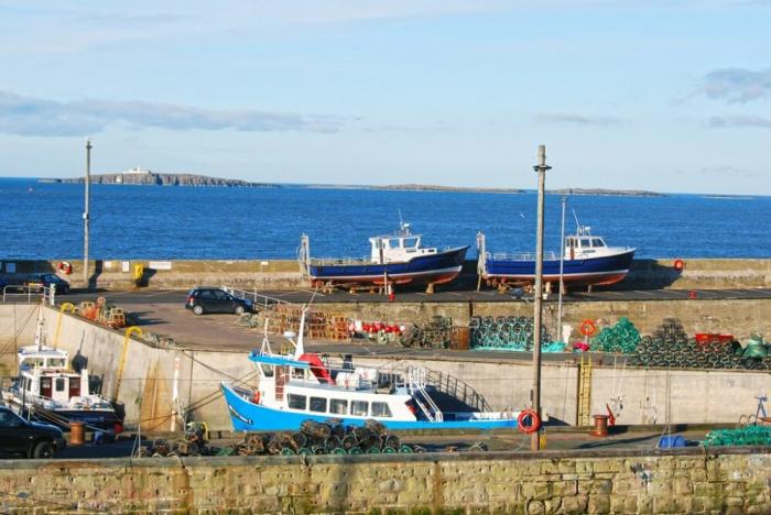
[[518,416],[529,413],[444,413],[432,397],[425,368],[401,362],[356,366],[350,359],[333,368],[325,357],[304,351],[304,324],[305,311],[296,342],[290,336],[284,346],[287,352],[272,352],[265,337],[249,354],[258,371],[257,388],[221,383],[234,430],[298,430],[310,419],[354,426],[374,419],[392,430],[495,429],[517,427]]

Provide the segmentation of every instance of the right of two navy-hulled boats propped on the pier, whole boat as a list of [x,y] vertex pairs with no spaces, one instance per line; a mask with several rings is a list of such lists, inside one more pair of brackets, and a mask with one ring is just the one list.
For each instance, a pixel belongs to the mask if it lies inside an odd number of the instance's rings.
[[[535,255],[486,252],[485,237],[478,238],[478,272],[490,286],[523,285],[535,281]],[[565,238],[562,277],[565,285],[587,286],[618,283],[629,273],[634,249],[608,246],[591,228],[578,224],[576,233]],[[543,281],[560,283],[560,254],[544,255]]]

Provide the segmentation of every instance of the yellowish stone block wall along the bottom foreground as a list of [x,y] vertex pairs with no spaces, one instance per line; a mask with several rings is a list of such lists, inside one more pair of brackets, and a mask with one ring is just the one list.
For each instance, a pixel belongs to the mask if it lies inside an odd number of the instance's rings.
[[769,448],[0,461],[0,509],[771,513]]

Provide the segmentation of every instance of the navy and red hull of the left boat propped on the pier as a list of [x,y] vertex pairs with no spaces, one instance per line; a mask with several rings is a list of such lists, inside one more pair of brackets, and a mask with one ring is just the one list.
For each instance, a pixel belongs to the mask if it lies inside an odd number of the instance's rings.
[[410,261],[377,263],[314,264],[308,272],[312,281],[333,284],[442,284],[460,273],[468,246],[435,254],[419,255]]

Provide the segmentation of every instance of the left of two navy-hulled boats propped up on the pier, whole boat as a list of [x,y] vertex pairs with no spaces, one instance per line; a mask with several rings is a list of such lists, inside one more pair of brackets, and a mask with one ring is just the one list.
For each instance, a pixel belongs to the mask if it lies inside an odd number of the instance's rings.
[[360,259],[311,258],[308,237],[303,234],[300,262],[314,286],[442,284],[460,273],[468,245],[439,251],[421,245],[421,235],[400,221],[394,234],[369,239],[371,253]]

